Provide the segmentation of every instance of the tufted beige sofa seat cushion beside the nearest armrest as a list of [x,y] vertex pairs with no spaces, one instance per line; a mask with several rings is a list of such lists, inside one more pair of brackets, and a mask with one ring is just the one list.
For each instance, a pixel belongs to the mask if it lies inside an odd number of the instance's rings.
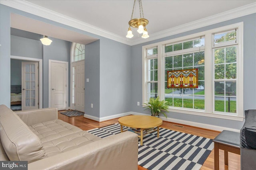
[[47,157],[60,154],[62,152],[67,152],[69,150],[82,147],[94,141],[101,140],[100,137],[92,135],[87,131],[80,131],[52,141],[43,143],[44,149],[46,151]]

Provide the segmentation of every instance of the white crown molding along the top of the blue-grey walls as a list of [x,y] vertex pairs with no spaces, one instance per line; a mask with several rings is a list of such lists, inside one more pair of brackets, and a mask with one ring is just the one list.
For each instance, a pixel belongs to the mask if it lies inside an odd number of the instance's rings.
[[46,18],[48,20],[56,21],[58,23],[62,23],[64,25],[68,25],[70,27],[74,27],[77,29],[81,29],[83,31],[87,31],[89,33],[93,33],[93,34],[96,34],[96,35],[99,35],[99,36],[102,36],[102,37],[105,37],[108,39],[112,39],[114,41],[118,41],[120,43],[124,43],[127,45],[137,45],[140,43],[153,41],[156,39],[160,39],[160,38],[168,37],[168,36],[175,35],[178,33],[190,31],[190,30],[197,29],[200,27],[205,27],[208,25],[222,22],[222,21],[232,20],[234,18],[238,18],[241,16],[246,16],[249,14],[256,13],[256,2],[254,2],[252,4],[248,4],[248,5],[239,7],[239,8],[235,8],[233,10],[222,12],[220,14],[216,14],[216,15],[206,17],[206,18],[203,18],[200,20],[196,20],[196,21],[193,21],[190,23],[179,25],[177,27],[166,29],[166,30],[160,31],[158,33],[150,34],[150,37],[148,39],[141,39],[141,38],[127,39],[125,37],[111,33],[104,29],[94,27],[93,25],[83,23],[74,18],[70,18],[68,16],[64,16],[64,15],[54,12],[52,10],[48,10],[41,6],[37,6],[35,4],[27,2],[25,0],[1,0],[0,4],[10,6],[12,8],[16,8],[18,10],[22,10],[24,12],[28,12],[28,13],[34,14],[36,16],[40,16],[40,17]]

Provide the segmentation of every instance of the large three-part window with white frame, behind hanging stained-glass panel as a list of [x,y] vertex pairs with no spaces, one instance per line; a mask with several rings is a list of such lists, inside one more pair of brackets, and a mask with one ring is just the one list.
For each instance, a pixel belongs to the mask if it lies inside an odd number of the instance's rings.
[[[242,121],[242,34],[237,23],[144,46],[143,103],[159,96],[170,111]],[[167,88],[167,71],[194,68],[197,88]]]

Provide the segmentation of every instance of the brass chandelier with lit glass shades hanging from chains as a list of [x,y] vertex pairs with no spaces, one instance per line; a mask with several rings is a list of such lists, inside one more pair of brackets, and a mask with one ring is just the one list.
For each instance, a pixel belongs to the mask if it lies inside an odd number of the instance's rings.
[[134,18],[134,19],[132,18],[133,17],[133,12],[134,12],[135,2],[136,2],[136,0],[134,0],[131,20],[128,22],[129,28],[128,28],[128,32],[127,32],[126,37],[127,38],[132,38],[133,37],[131,27],[134,27],[134,28],[138,28],[138,30],[137,30],[138,33],[143,33],[143,35],[141,36],[142,38],[148,38],[149,35],[148,35],[148,31],[146,29],[146,25],[148,25],[148,20],[144,18],[141,0],[138,0],[139,6],[140,6],[140,18]]

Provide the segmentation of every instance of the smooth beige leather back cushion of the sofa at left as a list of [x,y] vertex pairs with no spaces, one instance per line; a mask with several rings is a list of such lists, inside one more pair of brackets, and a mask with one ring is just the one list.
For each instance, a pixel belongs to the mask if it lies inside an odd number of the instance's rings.
[[10,160],[27,160],[30,163],[46,158],[40,139],[5,105],[0,106],[0,136]]

